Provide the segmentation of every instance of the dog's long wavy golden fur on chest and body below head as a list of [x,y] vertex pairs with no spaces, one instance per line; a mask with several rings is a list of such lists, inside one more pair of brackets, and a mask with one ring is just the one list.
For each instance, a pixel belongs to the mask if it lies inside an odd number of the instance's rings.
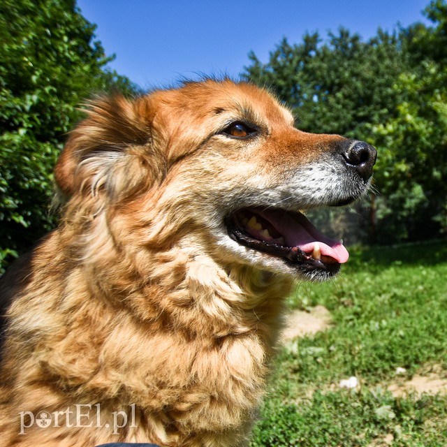
[[[175,247],[148,256],[152,274],[143,278],[135,258],[115,260],[112,270],[79,265],[63,245],[55,232],[38,248],[36,274],[10,309],[15,323],[6,353],[20,358],[3,369],[17,381],[2,391],[5,436],[19,432],[17,414],[4,417],[8,407],[54,413],[101,402],[101,425],[113,411],[136,415],[136,427],[120,432],[122,441],[205,446],[209,434],[216,446],[221,433],[222,446],[242,445],[265,388],[287,281],[250,268],[224,272],[211,258]],[[57,288],[52,275],[63,278]],[[42,351],[42,344],[50,348]],[[8,391],[15,387],[19,393]],[[49,446],[61,436],[54,429],[52,439],[52,430],[41,430]],[[93,444],[110,440],[103,428],[82,430]],[[67,428],[67,446],[71,433]],[[30,429],[20,439],[33,445],[36,436]]]

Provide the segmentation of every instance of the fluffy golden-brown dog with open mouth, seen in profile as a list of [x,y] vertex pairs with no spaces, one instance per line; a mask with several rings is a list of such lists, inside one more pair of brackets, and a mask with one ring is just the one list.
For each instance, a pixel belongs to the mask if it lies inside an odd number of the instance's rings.
[[284,297],[349,257],[303,211],[364,195],[375,160],[246,82],[90,103],[59,226],[1,281],[0,445],[246,446]]

